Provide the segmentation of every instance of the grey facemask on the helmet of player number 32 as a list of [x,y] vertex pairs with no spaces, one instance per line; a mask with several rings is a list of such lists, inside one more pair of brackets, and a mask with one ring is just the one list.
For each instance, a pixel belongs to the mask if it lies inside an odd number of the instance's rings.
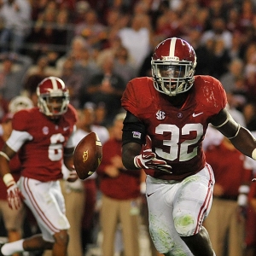
[[155,90],[168,96],[188,91],[194,83],[192,61],[151,61]]

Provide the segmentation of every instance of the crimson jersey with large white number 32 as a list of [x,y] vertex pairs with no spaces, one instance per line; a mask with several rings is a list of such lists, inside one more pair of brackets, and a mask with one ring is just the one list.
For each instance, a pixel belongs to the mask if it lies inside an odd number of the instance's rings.
[[195,83],[182,108],[175,108],[169,96],[154,89],[151,78],[132,79],[122,96],[122,107],[146,126],[152,148],[159,159],[172,166],[172,174],[147,169],[153,177],[183,179],[206,164],[202,140],[209,119],[227,104],[222,84],[210,76],[195,76]]

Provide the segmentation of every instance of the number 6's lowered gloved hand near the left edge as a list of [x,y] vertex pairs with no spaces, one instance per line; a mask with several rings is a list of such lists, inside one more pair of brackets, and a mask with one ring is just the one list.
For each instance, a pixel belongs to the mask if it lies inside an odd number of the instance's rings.
[[24,199],[23,195],[20,192],[20,189],[17,187],[15,181],[10,183],[7,188],[7,201],[11,209],[19,209],[22,205],[22,200]]

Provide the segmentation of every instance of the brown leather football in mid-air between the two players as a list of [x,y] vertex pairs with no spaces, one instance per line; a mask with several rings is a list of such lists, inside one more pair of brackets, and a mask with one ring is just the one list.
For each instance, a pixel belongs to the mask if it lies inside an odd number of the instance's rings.
[[73,165],[80,179],[90,177],[102,162],[102,143],[95,132],[87,134],[76,146]]

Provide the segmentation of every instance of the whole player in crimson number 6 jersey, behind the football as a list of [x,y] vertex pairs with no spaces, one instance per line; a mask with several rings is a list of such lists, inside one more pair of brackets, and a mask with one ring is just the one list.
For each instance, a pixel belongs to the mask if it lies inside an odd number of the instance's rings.
[[[68,180],[77,179],[73,169],[77,114],[61,79],[44,79],[38,84],[37,94],[38,107],[20,110],[13,117],[13,131],[0,151],[0,170],[9,207],[19,208],[24,201],[42,234],[2,244],[0,255],[45,249],[52,249],[53,255],[67,255],[69,223],[59,179],[62,162],[70,170]],[[22,172],[15,183],[9,160],[18,150]]]

